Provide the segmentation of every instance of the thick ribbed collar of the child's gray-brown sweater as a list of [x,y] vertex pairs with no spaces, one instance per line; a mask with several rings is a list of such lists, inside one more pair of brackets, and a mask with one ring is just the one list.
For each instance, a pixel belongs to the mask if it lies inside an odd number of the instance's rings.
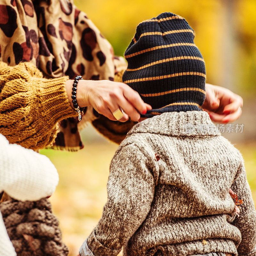
[[205,111],[163,113],[134,125],[128,134],[146,132],[186,137],[220,135],[219,130]]

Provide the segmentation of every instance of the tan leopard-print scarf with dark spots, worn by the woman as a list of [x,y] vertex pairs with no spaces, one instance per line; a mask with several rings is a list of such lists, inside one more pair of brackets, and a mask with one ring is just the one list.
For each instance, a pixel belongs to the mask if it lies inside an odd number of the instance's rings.
[[[126,63],[114,56],[84,12],[72,2],[66,7],[60,0],[0,0],[0,60],[11,66],[30,61],[50,78],[81,75],[86,80],[113,81]],[[88,107],[79,128],[98,116]],[[83,148],[77,124],[75,118],[60,122],[53,148]]]

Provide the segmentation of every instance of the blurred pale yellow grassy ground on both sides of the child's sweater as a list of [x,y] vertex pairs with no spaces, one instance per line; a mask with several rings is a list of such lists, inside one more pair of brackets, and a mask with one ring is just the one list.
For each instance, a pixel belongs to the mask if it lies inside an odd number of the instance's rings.
[[[236,147],[244,156],[252,196],[256,200],[256,143]],[[92,135],[91,140],[87,139],[85,148],[75,153],[40,152],[52,160],[60,175],[59,185],[50,200],[60,220],[69,256],[78,255],[80,246],[100,219],[107,200],[109,163],[116,148],[117,145]]]

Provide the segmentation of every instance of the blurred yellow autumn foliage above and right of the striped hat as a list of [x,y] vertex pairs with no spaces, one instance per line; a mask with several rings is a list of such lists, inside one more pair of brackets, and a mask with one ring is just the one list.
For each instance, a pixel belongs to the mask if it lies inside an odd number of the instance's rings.
[[[137,25],[162,12],[184,17],[195,30],[205,60],[208,83],[255,93],[255,0],[76,0],[77,7],[123,55]],[[250,89],[249,93],[244,93]]]

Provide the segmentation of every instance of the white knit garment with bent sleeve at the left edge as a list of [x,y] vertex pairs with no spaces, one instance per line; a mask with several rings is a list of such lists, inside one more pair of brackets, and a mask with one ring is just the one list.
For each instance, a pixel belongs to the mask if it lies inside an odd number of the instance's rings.
[[[20,201],[36,201],[51,196],[59,175],[46,156],[32,149],[9,144],[0,134],[0,192]],[[0,255],[15,256],[0,212]]]

